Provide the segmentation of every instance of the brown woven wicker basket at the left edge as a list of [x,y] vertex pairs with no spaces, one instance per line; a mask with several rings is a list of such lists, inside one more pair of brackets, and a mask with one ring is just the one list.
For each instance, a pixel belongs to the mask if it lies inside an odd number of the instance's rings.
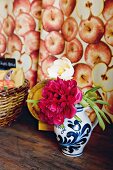
[[21,113],[27,98],[29,81],[19,88],[12,88],[0,92],[0,126],[10,125]]

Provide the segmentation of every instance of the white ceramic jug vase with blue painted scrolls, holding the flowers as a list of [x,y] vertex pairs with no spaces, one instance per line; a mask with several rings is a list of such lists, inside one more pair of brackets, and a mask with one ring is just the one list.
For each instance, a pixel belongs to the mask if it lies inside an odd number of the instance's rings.
[[98,123],[96,119],[92,125],[88,118],[86,111],[91,109],[90,107],[83,108],[81,105],[76,105],[76,108],[76,115],[80,120],[76,119],[76,117],[71,119],[66,118],[63,126],[54,125],[54,132],[60,148],[64,155],[70,157],[82,155],[83,149],[90,139],[92,130]]

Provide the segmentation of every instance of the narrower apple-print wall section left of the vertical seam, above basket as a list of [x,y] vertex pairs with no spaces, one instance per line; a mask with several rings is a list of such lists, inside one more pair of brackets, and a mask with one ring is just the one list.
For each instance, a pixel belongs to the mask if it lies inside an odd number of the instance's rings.
[[15,58],[30,87],[37,82],[42,1],[0,0],[0,56]]

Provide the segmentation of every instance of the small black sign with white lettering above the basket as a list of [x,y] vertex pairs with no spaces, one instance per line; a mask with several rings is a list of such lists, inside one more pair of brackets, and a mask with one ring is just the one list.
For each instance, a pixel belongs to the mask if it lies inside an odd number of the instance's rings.
[[16,68],[16,60],[14,58],[0,58],[0,70],[8,70]]

